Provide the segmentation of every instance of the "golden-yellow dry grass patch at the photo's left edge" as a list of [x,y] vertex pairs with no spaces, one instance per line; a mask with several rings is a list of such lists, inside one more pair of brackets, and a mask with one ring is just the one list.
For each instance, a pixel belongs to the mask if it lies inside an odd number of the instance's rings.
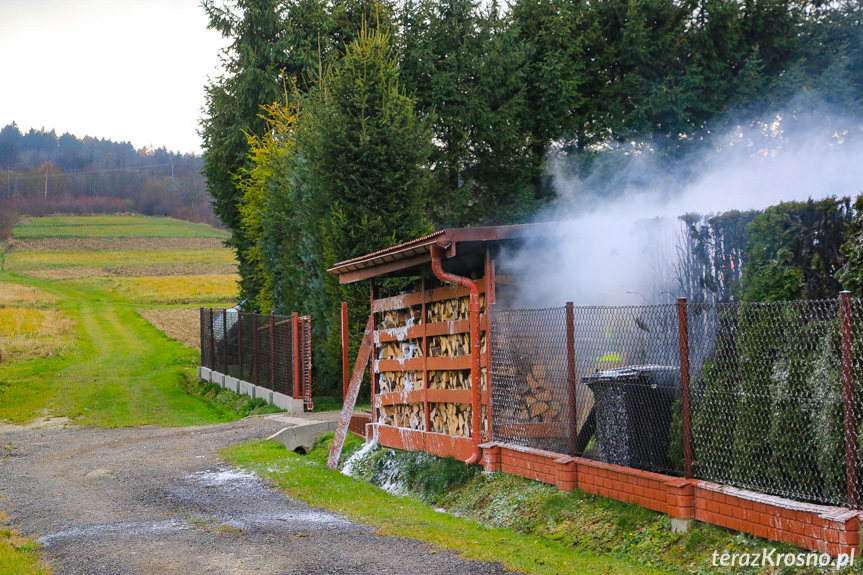
[[4,362],[53,357],[73,344],[74,323],[52,309],[0,309],[0,359]]

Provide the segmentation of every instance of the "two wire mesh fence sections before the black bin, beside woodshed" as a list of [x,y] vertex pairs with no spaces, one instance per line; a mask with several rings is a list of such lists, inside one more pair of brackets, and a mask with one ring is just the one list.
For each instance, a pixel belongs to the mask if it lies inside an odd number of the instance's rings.
[[673,470],[676,306],[492,306],[491,333],[496,441]]

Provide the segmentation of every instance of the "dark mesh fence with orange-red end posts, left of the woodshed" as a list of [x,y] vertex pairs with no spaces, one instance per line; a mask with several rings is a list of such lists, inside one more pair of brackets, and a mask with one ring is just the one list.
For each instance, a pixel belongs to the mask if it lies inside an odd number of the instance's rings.
[[311,318],[201,308],[201,365],[311,409]]

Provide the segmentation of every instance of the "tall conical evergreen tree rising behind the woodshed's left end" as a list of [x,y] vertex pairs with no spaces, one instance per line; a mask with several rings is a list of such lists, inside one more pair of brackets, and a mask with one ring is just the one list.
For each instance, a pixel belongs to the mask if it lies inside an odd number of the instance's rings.
[[[431,134],[400,86],[390,35],[362,30],[323,87],[304,102],[297,131],[295,177],[304,212],[319,218],[320,273],[430,230],[424,214]],[[358,342],[368,291],[325,275],[325,293],[318,294],[329,302],[318,316],[328,342],[323,375],[337,381],[339,302],[349,304]]]

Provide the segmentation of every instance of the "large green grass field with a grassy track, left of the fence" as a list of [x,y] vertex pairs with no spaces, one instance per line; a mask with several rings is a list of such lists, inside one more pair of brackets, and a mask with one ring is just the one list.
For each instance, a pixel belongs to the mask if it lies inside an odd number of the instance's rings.
[[[194,425],[236,414],[189,394],[196,350],[166,337],[136,307],[232,302],[235,274],[38,277],[64,270],[126,266],[230,265],[226,248],[162,249],[153,238],[224,238],[200,224],[140,216],[31,218],[16,239],[141,240],[140,249],[13,250],[0,272],[0,420],[45,416],[108,427]],[[181,242],[182,243],[182,242]],[[188,242],[187,242],[188,243]],[[211,242],[212,243],[212,242]],[[194,242],[189,245],[193,245]],[[5,287],[4,287],[5,286]],[[4,295],[5,294],[5,295]]]

